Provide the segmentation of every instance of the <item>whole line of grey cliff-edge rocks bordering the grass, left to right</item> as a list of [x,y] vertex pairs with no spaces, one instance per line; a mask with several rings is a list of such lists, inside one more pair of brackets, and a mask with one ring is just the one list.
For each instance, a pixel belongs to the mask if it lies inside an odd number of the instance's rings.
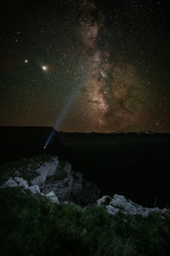
[[9,164],[8,168],[5,165],[3,167],[7,169],[8,180],[0,189],[21,186],[31,190],[33,194],[48,197],[53,203],[74,202],[82,207],[97,203],[104,206],[111,215],[122,212],[148,217],[150,212],[158,212],[160,216],[167,212],[166,208],[142,207],[123,195],[114,195],[112,198],[104,195],[99,198],[100,191],[94,183],[88,182],[81,172],[74,172],[70,163],[59,161],[54,156],[25,159],[18,165],[15,163],[14,166]]

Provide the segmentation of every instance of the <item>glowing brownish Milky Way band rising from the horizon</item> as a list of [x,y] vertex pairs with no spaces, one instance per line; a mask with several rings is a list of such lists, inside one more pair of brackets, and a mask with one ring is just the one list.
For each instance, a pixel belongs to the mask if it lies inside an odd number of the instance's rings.
[[144,105],[150,96],[144,82],[122,55],[111,61],[111,45],[99,49],[99,30],[105,27],[105,16],[99,12],[94,19],[96,7],[92,2],[84,1],[82,7],[79,33],[89,66],[84,105],[88,106],[90,123],[96,131],[107,132],[148,124],[149,114]]

